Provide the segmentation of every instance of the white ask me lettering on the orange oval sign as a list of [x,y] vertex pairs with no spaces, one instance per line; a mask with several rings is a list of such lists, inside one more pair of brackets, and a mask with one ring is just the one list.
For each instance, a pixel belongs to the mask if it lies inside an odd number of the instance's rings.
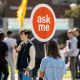
[[37,22],[38,22],[38,30],[39,31],[49,31],[50,17],[48,15],[45,15],[43,17],[38,16]]

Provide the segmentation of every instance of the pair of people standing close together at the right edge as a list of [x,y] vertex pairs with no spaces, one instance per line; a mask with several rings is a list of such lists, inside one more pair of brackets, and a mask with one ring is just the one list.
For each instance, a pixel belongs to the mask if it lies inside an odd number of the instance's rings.
[[74,28],[69,30],[67,35],[68,40],[64,48],[64,55],[70,62],[72,80],[80,79],[80,30],[79,28]]

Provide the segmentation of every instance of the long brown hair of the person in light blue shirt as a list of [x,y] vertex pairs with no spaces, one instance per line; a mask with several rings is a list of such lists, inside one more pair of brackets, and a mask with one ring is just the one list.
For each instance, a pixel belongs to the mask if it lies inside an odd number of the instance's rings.
[[48,43],[48,54],[47,56],[51,56],[53,58],[61,58],[59,54],[58,43],[53,40]]

